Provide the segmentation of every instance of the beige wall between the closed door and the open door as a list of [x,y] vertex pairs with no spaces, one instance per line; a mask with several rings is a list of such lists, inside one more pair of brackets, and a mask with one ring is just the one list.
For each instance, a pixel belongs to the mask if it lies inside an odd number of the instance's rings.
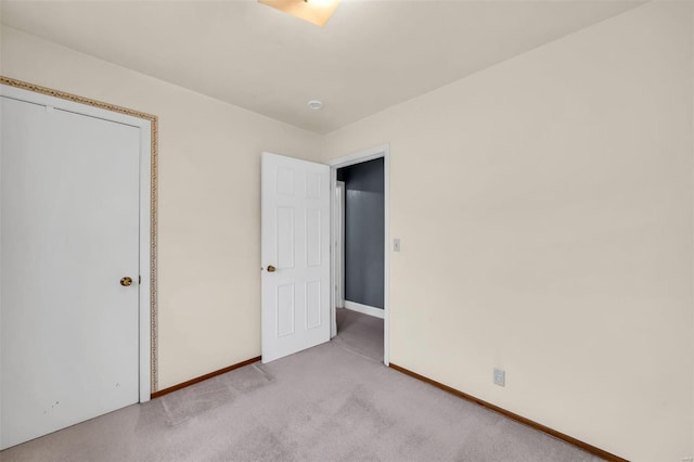
[[159,388],[260,355],[260,152],[322,140],[192,91],[2,29],[2,74],[159,119]]

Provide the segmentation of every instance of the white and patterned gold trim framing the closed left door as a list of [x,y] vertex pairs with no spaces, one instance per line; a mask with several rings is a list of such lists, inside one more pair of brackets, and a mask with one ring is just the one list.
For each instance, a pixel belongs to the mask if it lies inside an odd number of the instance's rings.
[[158,387],[156,335],[157,117],[1,75],[0,94],[126,124],[140,129],[139,401],[149,401],[152,393],[155,393]]

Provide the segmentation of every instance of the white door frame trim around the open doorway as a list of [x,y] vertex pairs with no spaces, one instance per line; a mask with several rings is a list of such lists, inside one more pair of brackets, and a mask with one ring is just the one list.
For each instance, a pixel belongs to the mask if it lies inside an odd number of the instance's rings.
[[[331,243],[335,242],[335,182],[337,181],[337,169],[363,162],[383,158],[383,187],[384,187],[384,253],[383,253],[383,363],[390,364],[390,145],[382,144],[363,151],[358,151],[343,157],[337,157],[326,162],[330,166],[330,193],[331,197]],[[335,251],[331,245],[331,328],[335,325]]]

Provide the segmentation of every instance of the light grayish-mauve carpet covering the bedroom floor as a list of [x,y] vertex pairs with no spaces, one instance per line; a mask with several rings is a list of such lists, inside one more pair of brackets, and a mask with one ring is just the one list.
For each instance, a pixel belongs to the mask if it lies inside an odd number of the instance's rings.
[[102,415],[10,448],[0,459],[599,460],[384,367],[377,339],[360,343],[374,321],[343,315],[343,333],[333,342]]

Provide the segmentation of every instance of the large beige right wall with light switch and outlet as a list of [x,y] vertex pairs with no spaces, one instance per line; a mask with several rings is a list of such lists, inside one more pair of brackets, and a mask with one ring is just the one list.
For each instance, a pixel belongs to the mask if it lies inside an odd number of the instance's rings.
[[694,455],[692,77],[690,5],[648,4],[329,134],[324,159],[390,143],[390,360]]

